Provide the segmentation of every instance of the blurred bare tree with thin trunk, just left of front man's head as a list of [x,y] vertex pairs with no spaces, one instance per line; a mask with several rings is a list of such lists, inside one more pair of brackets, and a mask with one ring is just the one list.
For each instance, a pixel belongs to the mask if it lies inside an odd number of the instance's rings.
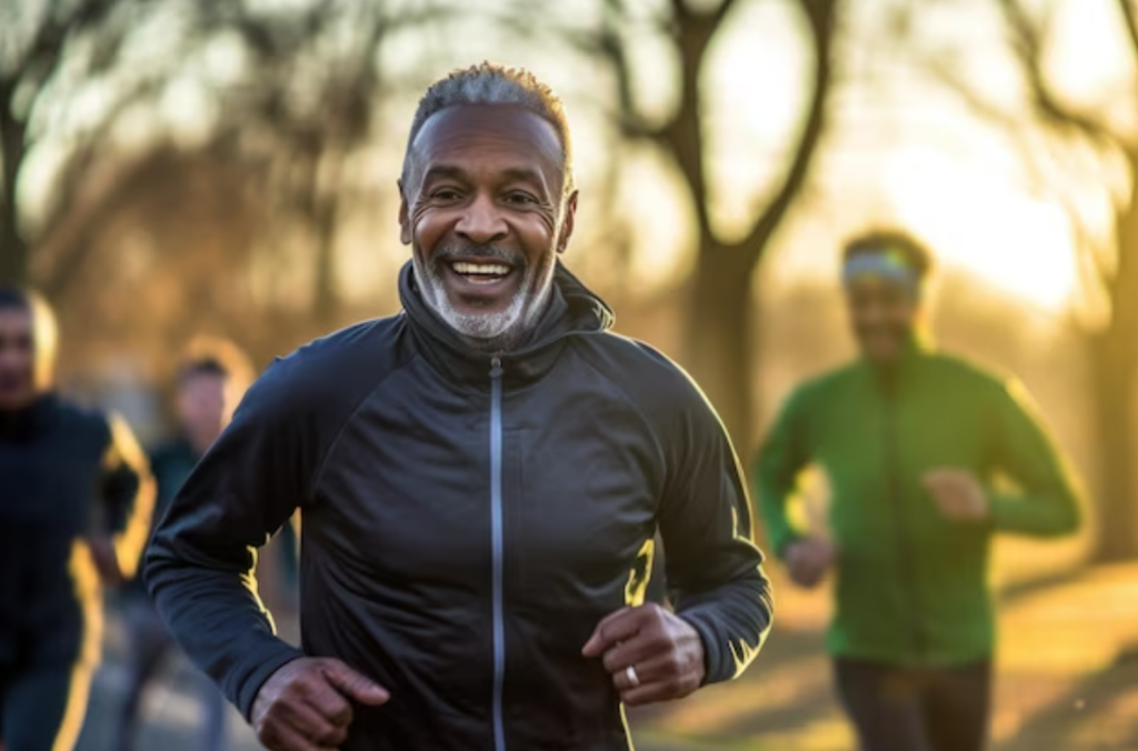
[[242,83],[218,92],[214,139],[259,175],[275,207],[270,226],[304,237],[311,315],[321,328],[337,317],[337,247],[346,215],[374,200],[353,182],[351,164],[374,143],[379,109],[398,89],[381,67],[382,48],[440,13],[434,3],[391,0],[277,10],[236,1],[207,11],[211,28],[236,32],[247,60]]

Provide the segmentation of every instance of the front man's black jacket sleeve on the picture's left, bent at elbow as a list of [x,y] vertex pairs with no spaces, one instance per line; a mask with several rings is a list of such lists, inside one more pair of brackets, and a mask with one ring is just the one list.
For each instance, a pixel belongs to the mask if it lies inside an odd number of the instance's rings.
[[314,485],[319,410],[280,361],[170,503],[146,559],[158,611],[190,659],[249,717],[264,682],[303,653],[279,639],[257,594],[257,548]]

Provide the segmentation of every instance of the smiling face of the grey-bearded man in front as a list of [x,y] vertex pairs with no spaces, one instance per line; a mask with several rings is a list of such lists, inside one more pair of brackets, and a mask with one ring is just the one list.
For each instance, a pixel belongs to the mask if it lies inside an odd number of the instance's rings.
[[519,107],[462,105],[431,116],[399,188],[402,239],[423,298],[459,333],[506,348],[549,300],[572,232],[554,127]]

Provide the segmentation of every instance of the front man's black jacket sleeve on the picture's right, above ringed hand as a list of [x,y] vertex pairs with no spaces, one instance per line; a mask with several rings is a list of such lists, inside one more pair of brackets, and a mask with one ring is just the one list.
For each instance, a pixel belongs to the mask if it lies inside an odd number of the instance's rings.
[[731,440],[702,395],[678,412],[663,444],[660,536],[676,612],[700,634],[710,684],[736,677],[754,659],[774,604]]

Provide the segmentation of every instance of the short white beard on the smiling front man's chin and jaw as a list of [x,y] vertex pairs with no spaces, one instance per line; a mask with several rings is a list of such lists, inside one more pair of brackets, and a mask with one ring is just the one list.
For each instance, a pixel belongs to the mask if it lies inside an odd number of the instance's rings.
[[[527,265],[521,284],[505,310],[468,313],[455,310],[437,269],[423,267],[418,255],[412,256],[412,262],[423,302],[459,336],[479,349],[493,352],[512,348],[537,325],[553,290],[553,271],[556,266],[556,263],[550,263],[547,269],[537,270],[531,264]],[[537,280],[536,292],[531,294],[529,290],[538,273],[543,278]]]

